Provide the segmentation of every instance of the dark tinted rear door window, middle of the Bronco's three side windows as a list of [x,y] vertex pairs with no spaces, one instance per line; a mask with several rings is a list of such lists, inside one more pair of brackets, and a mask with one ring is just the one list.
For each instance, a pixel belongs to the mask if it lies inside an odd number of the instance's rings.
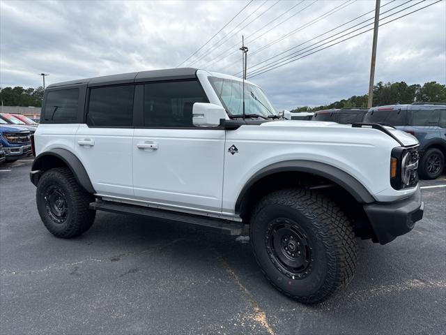
[[89,126],[132,126],[134,85],[99,87],[90,90]]

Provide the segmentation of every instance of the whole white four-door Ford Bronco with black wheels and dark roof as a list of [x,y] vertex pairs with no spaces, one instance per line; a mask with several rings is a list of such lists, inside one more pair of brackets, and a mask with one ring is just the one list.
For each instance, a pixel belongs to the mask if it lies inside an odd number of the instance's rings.
[[249,229],[279,291],[323,301],[355,273],[356,237],[386,244],[423,215],[412,135],[292,121],[260,87],[194,68],[52,84],[33,136],[38,212],[56,237],[96,211]]

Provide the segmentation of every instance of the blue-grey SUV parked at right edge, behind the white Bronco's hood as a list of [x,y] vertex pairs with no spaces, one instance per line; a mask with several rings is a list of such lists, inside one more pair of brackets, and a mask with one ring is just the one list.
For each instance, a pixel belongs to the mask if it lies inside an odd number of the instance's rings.
[[387,124],[417,137],[420,141],[420,177],[436,179],[445,170],[446,103],[372,107],[364,122]]

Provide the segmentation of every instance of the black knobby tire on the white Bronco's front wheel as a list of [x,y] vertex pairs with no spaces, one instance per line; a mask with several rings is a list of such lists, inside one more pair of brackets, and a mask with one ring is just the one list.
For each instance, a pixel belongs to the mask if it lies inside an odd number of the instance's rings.
[[[289,221],[291,229],[305,234],[311,246],[311,262],[302,275],[292,276],[284,270],[268,248],[268,232],[277,220]],[[327,299],[355,274],[357,242],[352,226],[334,202],[316,191],[289,188],[266,195],[252,214],[250,239],[255,258],[272,286],[304,304]]]

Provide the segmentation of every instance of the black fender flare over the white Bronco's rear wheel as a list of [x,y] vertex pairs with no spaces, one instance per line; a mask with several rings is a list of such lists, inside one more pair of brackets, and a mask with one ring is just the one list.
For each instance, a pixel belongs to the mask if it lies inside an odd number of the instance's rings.
[[33,165],[31,166],[31,182],[37,186],[38,179],[43,171],[49,170],[53,168],[52,165],[45,163],[48,160],[49,156],[59,158],[59,160],[63,161],[65,165],[70,169],[72,174],[75,176],[77,183],[79,183],[82,188],[86,192],[95,193],[95,189],[93,188],[93,184],[91,184],[91,180],[89,174],[86,172],[84,165],[82,165],[79,158],[75,156],[71,151],[62,148],[54,148],[49,151],[45,151],[42,154],[39,154],[36,159],[33,161]]

